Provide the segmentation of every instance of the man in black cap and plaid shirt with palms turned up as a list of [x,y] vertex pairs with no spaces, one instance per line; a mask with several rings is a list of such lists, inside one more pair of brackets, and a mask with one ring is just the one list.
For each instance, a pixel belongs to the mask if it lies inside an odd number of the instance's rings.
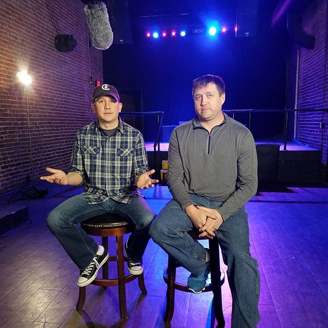
[[135,227],[125,244],[128,270],[135,275],[144,271],[142,255],[155,214],[137,188],[147,189],[158,182],[150,177],[155,171],[148,171],[141,133],[118,118],[122,104],[117,90],[107,84],[96,87],[92,102],[97,120],[77,132],[69,173],[47,168],[52,175],[40,177],[84,188],[82,194],[64,201],[47,217],[50,231],[83,271],[77,280],[80,287],[95,279],[109,257],[104,247],[78,226],[96,215],[127,217]]

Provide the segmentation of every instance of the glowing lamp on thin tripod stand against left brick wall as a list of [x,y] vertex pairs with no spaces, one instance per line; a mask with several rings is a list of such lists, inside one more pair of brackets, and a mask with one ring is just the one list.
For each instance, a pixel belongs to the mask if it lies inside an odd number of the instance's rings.
[[[30,122],[30,110],[29,110],[29,100],[28,100],[28,92],[27,87],[32,83],[32,78],[27,72],[19,72],[17,73],[17,77],[20,82],[23,84],[25,89],[25,96],[26,96],[26,107],[27,107],[27,119],[28,119],[28,129],[29,129],[29,144],[30,144],[30,157],[31,157],[31,178],[29,176],[26,177],[25,185],[20,188],[10,199],[9,203],[12,202],[15,197],[22,192],[22,196],[28,199],[36,199],[43,197],[48,194],[48,189],[50,189],[56,195],[61,196],[59,193],[54,191],[53,189],[46,187],[41,181],[38,183],[44,186],[46,189],[37,189],[35,187],[35,179],[34,179],[34,165],[33,165],[33,151],[32,151],[32,136],[31,136],[31,122]],[[30,187],[30,182],[32,182],[32,186]]]

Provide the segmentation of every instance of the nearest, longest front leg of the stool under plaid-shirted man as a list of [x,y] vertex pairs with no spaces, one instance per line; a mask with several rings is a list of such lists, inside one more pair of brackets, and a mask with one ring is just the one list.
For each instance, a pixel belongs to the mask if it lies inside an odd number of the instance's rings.
[[118,301],[121,319],[128,318],[127,301],[125,294],[125,273],[124,273],[124,254],[123,254],[123,236],[116,236],[117,252],[117,276],[118,276]]

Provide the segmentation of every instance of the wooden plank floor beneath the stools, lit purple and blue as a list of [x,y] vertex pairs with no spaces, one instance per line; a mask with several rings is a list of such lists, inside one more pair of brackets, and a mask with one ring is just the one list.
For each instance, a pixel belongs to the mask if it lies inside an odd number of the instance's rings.
[[[251,252],[261,275],[258,327],[328,327],[328,188],[267,190],[247,204]],[[71,189],[63,195],[77,192]],[[171,197],[167,187],[161,186],[145,195],[156,213]],[[84,310],[75,310],[78,270],[45,223],[47,213],[63,200],[49,195],[15,202],[28,205],[31,223],[0,239],[0,326],[164,327],[162,270],[167,256],[152,241],[144,257],[148,295],[140,297],[136,280],[127,284],[128,320],[119,318],[116,287],[88,286]],[[186,279],[188,273],[180,270],[179,276]],[[176,292],[171,326],[210,327],[211,296]],[[228,281],[223,285],[223,306],[226,327],[230,327]]]

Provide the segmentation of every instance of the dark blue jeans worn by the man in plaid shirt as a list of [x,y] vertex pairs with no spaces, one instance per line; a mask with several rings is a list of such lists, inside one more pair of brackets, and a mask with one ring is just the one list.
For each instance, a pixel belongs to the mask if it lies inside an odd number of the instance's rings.
[[78,223],[106,213],[117,213],[133,224],[134,231],[129,237],[129,250],[131,258],[136,262],[140,261],[150,238],[150,224],[155,218],[155,213],[141,196],[133,197],[129,204],[112,199],[98,204],[88,204],[81,194],[61,203],[47,217],[50,231],[80,270],[84,270],[91,262],[97,253],[98,244],[79,227]]

